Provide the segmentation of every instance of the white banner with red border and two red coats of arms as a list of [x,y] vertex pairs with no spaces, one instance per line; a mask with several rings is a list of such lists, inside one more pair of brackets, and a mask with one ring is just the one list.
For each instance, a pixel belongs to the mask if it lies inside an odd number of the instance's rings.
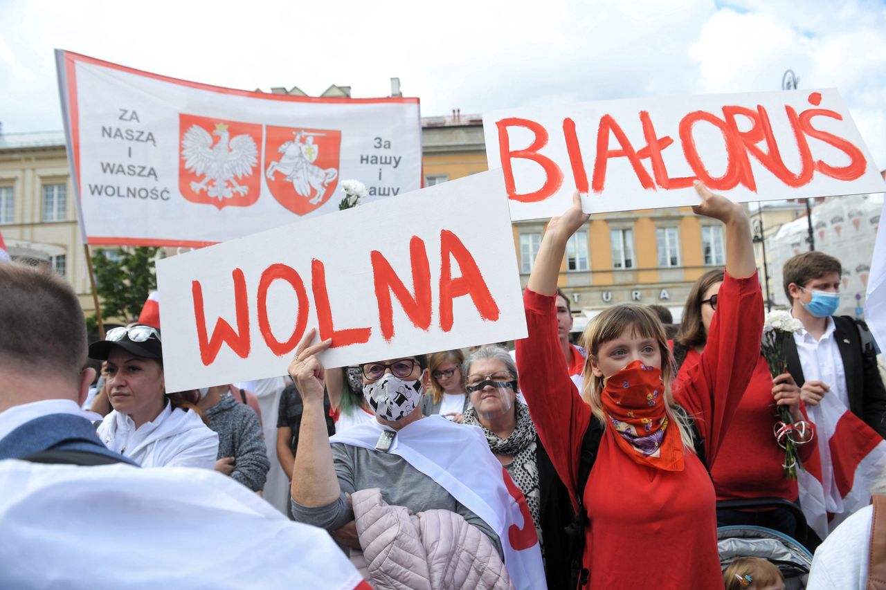
[[314,98],[186,82],[57,50],[84,240],[209,245],[417,190],[417,98]]

